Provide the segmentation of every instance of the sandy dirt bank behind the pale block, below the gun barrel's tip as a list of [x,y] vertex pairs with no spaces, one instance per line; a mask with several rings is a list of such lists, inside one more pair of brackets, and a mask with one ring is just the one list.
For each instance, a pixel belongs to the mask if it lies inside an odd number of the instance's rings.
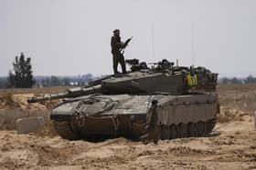
[[28,104],[27,99],[34,94],[5,94],[0,96],[0,130],[15,129],[16,120],[23,117],[43,116],[47,126],[43,134],[55,134],[49,122],[49,113],[57,101],[47,101],[36,104]]

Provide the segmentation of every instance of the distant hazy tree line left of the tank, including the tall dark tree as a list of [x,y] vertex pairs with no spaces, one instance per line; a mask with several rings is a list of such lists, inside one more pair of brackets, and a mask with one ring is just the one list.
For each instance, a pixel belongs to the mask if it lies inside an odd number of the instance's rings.
[[30,88],[32,86],[83,86],[94,77],[91,74],[77,76],[34,76],[31,58],[23,53],[15,57],[8,76],[0,77],[0,88]]

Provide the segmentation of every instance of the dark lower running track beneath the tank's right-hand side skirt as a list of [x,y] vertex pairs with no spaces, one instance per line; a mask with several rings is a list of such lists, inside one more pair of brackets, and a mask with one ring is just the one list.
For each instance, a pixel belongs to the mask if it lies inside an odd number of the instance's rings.
[[158,138],[165,140],[205,136],[212,132],[215,125],[216,119],[209,120],[208,122],[197,122],[197,124],[160,125],[158,126]]

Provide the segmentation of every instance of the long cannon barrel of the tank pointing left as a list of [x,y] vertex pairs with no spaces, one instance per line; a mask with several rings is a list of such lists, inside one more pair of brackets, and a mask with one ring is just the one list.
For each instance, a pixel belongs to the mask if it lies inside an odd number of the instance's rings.
[[101,85],[95,85],[88,88],[69,88],[64,93],[30,97],[27,100],[27,103],[37,103],[37,102],[44,102],[44,101],[53,100],[53,99],[79,97],[82,95],[91,95],[95,93],[101,93],[101,91],[102,91]]

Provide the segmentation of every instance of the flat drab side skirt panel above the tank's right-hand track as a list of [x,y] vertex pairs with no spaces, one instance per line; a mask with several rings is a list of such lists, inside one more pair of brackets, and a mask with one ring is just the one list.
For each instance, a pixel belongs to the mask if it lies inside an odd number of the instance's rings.
[[[219,112],[219,102],[213,95],[166,96],[157,107],[158,124],[178,125],[208,121]],[[189,105],[187,105],[189,102]]]

